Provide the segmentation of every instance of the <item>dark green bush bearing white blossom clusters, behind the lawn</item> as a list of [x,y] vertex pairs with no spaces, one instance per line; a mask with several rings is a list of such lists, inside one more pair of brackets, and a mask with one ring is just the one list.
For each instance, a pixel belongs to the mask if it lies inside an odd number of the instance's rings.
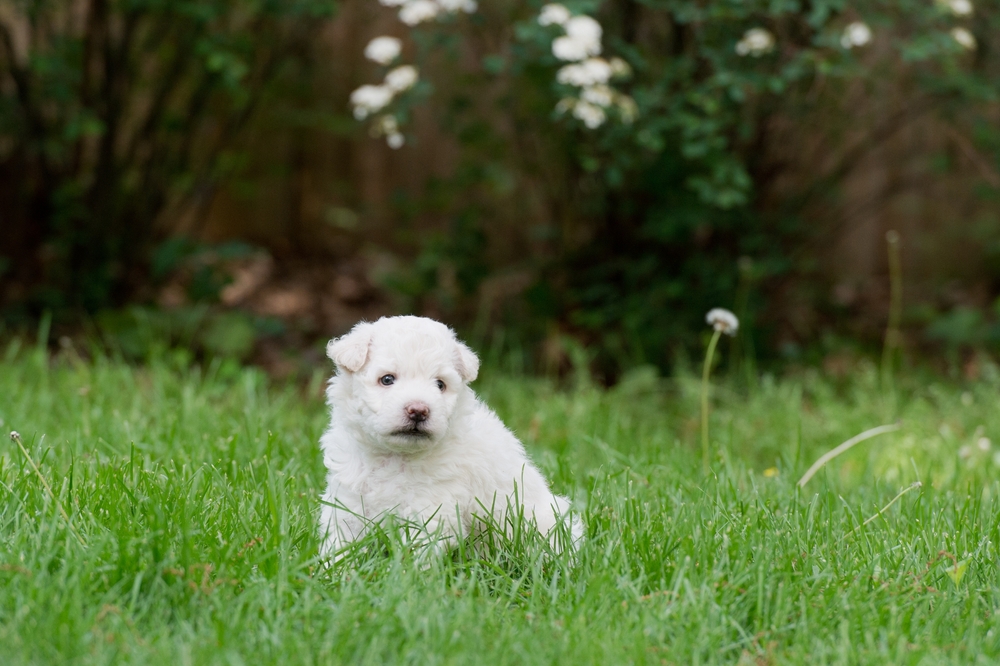
[[[633,361],[662,362],[664,341],[690,339],[702,304],[732,299],[740,280],[807,270],[790,252],[810,242],[801,216],[893,129],[812,157],[774,137],[883,73],[939,113],[998,92],[980,46],[997,12],[968,0],[449,3],[418,14],[404,51],[421,86],[383,93],[377,111],[362,105],[390,141],[414,104],[432,105],[462,151],[453,189],[434,190],[435,214],[456,221],[428,237],[401,277],[406,292],[460,303],[492,272],[484,239],[517,233],[504,242],[529,249],[517,263],[537,276],[533,312],[619,336],[630,349],[616,353]],[[867,131],[847,117],[809,122],[830,136]],[[802,189],[788,190],[786,174]],[[742,278],[740,257],[754,266]],[[442,262],[457,296],[431,268]]]

